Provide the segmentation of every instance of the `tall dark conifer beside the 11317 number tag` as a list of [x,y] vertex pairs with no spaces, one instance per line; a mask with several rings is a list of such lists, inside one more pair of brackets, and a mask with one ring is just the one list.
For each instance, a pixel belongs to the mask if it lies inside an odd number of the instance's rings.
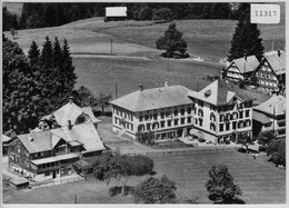
[[260,30],[256,23],[250,23],[250,4],[242,4],[243,10],[240,14],[237,23],[232,41],[231,49],[229,51],[228,60],[232,61],[247,56],[255,55],[258,60],[263,57],[262,39],[260,38]]

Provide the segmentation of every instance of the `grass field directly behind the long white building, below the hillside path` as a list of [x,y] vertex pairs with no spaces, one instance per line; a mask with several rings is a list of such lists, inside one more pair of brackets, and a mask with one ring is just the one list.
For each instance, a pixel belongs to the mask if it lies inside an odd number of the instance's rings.
[[[207,76],[219,75],[221,66],[217,63],[198,62],[192,60],[148,59],[146,57],[103,57],[73,58],[78,76],[77,88],[87,87],[96,96],[100,92],[111,93],[116,98],[116,82],[118,97],[139,89],[182,85],[192,90],[200,90],[211,81]],[[246,91],[258,102],[269,99],[268,96]]]

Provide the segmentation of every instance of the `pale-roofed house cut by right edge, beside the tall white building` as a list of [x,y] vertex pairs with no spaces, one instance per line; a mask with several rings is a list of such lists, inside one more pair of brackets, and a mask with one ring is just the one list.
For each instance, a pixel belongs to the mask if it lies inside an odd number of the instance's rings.
[[272,95],[263,103],[253,107],[253,135],[272,131],[277,137],[286,136],[286,98]]

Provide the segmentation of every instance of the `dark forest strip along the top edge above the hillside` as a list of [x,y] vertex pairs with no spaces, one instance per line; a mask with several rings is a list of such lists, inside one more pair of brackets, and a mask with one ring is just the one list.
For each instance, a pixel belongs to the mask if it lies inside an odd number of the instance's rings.
[[[3,7],[3,31],[61,26],[104,17],[106,7],[127,7],[130,20],[237,19],[242,10],[231,3],[23,3],[20,18]],[[238,4],[237,4],[238,6]]]

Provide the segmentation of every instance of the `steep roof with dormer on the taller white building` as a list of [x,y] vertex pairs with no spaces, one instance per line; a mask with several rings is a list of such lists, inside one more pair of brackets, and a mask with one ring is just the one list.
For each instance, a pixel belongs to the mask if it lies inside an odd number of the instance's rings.
[[[207,93],[208,91],[210,91],[209,96]],[[216,80],[199,92],[191,90],[188,92],[188,96],[212,103],[215,106],[232,103],[233,97],[236,97],[240,101],[252,100],[252,98],[246,95],[246,92],[241,90],[237,85],[227,79]]]

